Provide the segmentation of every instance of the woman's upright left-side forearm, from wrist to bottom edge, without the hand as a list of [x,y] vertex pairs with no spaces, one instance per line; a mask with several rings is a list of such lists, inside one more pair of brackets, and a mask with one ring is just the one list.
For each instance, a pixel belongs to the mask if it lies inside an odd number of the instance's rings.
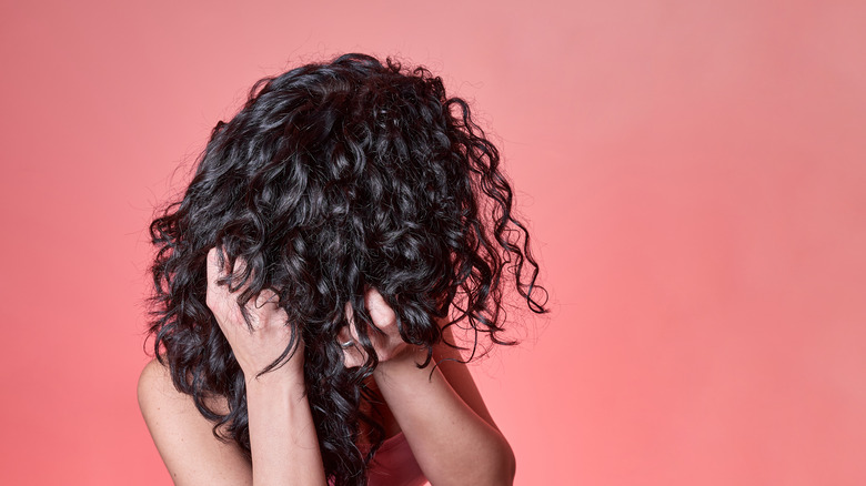
[[246,385],[253,485],[325,484],[310,404],[303,381],[279,371]]

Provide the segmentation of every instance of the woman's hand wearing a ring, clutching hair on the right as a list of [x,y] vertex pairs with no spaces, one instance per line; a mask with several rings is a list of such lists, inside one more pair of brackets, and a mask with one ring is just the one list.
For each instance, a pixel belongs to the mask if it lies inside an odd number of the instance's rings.
[[[364,305],[370,314],[373,325],[379,330],[369,330],[367,335],[373,343],[373,348],[379,356],[379,361],[396,361],[412,355],[415,346],[403,341],[396,326],[396,314],[394,310],[382,297],[375,288],[366,291],[364,294]],[[354,316],[352,306],[345,306],[349,325],[343,327],[338,335],[340,345],[343,347],[343,356],[346,367],[361,366],[366,362],[366,352],[359,343],[358,331],[354,326]]]

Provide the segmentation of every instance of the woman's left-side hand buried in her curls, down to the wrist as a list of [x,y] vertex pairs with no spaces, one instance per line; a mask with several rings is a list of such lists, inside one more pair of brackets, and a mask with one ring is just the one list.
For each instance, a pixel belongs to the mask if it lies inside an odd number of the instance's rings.
[[[238,305],[238,292],[229,292],[226,285],[216,282],[225,276],[225,270],[220,267],[219,250],[208,252],[208,297],[207,303],[213,312],[223,335],[234,352],[234,357],[250,381],[274,362],[289,346],[292,338],[292,327],[286,325],[289,316],[278,305],[278,295],[270,290],[262,291],[251,298],[246,305],[246,314],[252,326],[248,326],[241,307]],[[243,269],[243,262],[235,262],[235,270]],[[295,342],[293,355],[289,362],[273,369],[273,373],[288,373],[293,378],[303,378],[303,342]]]

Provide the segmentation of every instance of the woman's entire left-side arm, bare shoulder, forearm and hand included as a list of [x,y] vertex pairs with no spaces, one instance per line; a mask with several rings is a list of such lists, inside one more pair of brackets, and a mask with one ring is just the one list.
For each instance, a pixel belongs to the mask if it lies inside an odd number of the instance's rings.
[[208,306],[232,346],[246,378],[246,407],[252,464],[234,444],[211,433],[189,396],[175,391],[168,371],[149,364],[139,379],[139,403],[165,466],[178,485],[325,484],[315,426],[304,394],[303,343],[283,366],[255,377],[279,356],[291,338],[286,316],[263,292],[246,311],[246,326],[236,294],[216,285],[215,251],[208,257]]

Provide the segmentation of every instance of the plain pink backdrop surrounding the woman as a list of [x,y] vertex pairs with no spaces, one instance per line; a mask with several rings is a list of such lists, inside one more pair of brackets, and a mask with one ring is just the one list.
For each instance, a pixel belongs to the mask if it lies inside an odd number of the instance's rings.
[[253,81],[364,51],[475,102],[532,221],[553,313],[473,368],[517,484],[866,484],[863,2],[313,3],[0,6],[0,483],[170,483],[152,207]]

